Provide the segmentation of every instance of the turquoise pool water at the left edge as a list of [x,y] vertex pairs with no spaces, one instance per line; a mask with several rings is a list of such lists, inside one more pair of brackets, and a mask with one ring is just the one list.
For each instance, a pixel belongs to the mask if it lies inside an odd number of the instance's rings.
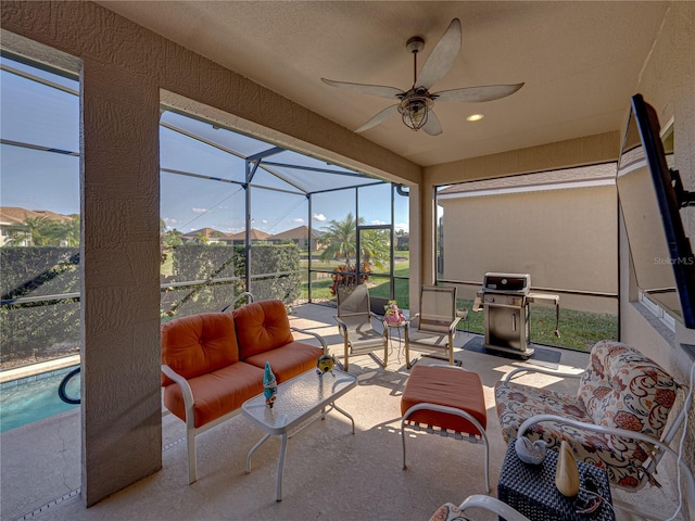
[[72,369],[3,383],[0,387],[0,432],[79,407],[79,404],[66,404],[58,396],[61,380]]

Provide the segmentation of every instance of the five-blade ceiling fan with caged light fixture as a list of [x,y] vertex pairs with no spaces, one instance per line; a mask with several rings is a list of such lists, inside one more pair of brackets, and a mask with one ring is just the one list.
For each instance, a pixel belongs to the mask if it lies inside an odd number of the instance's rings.
[[439,136],[442,134],[442,125],[432,111],[434,100],[478,103],[505,98],[523,87],[521,82],[516,85],[464,87],[460,89],[430,92],[432,86],[443,78],[452,68],[460,50],[460,21],[458,18],[452,20],[448,28],[437,42],[432,53],[425,62],[419,76],[417,75],[417,53],[424,49],[425,40],[419,36],[414,36],[406,42],[405,47],[413,53],[414,60],[413,87],[407,91],[381,85],[351,84],[348,81],[334,81],[332,79],[321,78],[325,84],[332,87],[355,90],[365,94],[379,96],[399,101],[396,104],[379,112],[362,127],[356,129],[355,132],[364,132],[384,122],[392,115],[401,113],[406,127],[413,130],[419,130],[421,128],[430,136]]

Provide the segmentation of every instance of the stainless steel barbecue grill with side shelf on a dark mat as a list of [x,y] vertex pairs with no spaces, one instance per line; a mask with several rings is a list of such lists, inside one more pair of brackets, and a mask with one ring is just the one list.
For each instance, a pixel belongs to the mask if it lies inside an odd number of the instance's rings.
[[[529,274],[485,274],[480,298],[485,314],[483,347],[521,355],[533,355],[531,347],[531,303],[555,305],[559,318],[559,296],[531,292]],[[557,325],[555,334],[559,336]]]

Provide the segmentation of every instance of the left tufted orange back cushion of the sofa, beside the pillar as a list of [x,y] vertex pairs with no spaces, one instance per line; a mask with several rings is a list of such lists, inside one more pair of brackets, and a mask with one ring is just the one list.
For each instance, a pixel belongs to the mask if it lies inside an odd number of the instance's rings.
[[[186,379],[239,361],[233,317],[204,313],[162,325],[162,364]],[[162,374],[162,385],[173,383]]]

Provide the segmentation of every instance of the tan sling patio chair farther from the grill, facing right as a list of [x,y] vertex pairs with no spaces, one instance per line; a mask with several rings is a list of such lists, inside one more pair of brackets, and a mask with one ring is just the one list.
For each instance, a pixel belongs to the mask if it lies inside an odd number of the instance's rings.
[[[369,291],[365,284],[339,285],[336,290],[338,315],[334,317],[345,346],[345,371],[350,355],[370,355],[378,364],[387,367],[389,359],[389,328],[382,321],[383,329],[374,328],[372,320],[379,320],[371,312]],[[383,350],[383,359],[374,354],[375,350]]]

